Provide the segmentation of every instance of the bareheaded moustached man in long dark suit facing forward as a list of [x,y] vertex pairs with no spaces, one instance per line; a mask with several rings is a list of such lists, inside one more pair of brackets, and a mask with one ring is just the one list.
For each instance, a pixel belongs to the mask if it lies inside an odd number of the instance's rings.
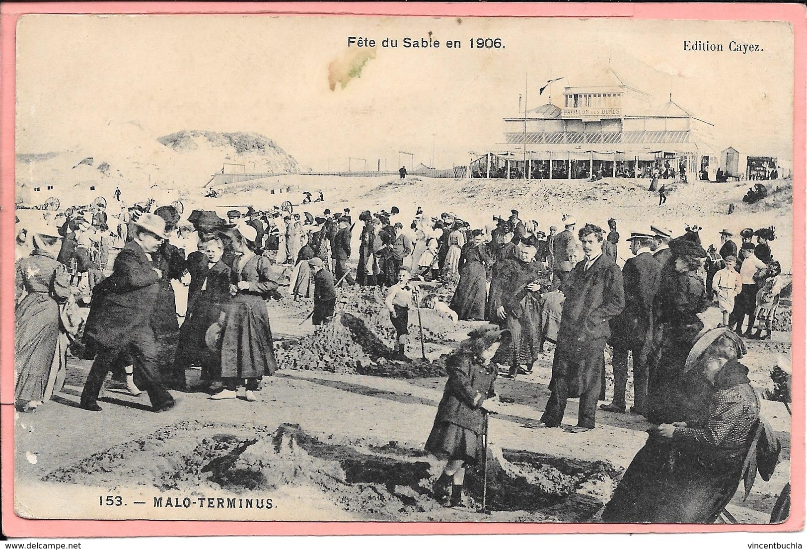
[[560,426],[568,397],[579,397],[577,426],[573,433],[594,428],[597,398],[603,383],[605,342],[611,336],[609,321],[625,309],[622,272],[602,254],[603,230],[587,224],[579,230],[586,254],[569,274],[563,294],[550,381],[550,398],[539,427]]

